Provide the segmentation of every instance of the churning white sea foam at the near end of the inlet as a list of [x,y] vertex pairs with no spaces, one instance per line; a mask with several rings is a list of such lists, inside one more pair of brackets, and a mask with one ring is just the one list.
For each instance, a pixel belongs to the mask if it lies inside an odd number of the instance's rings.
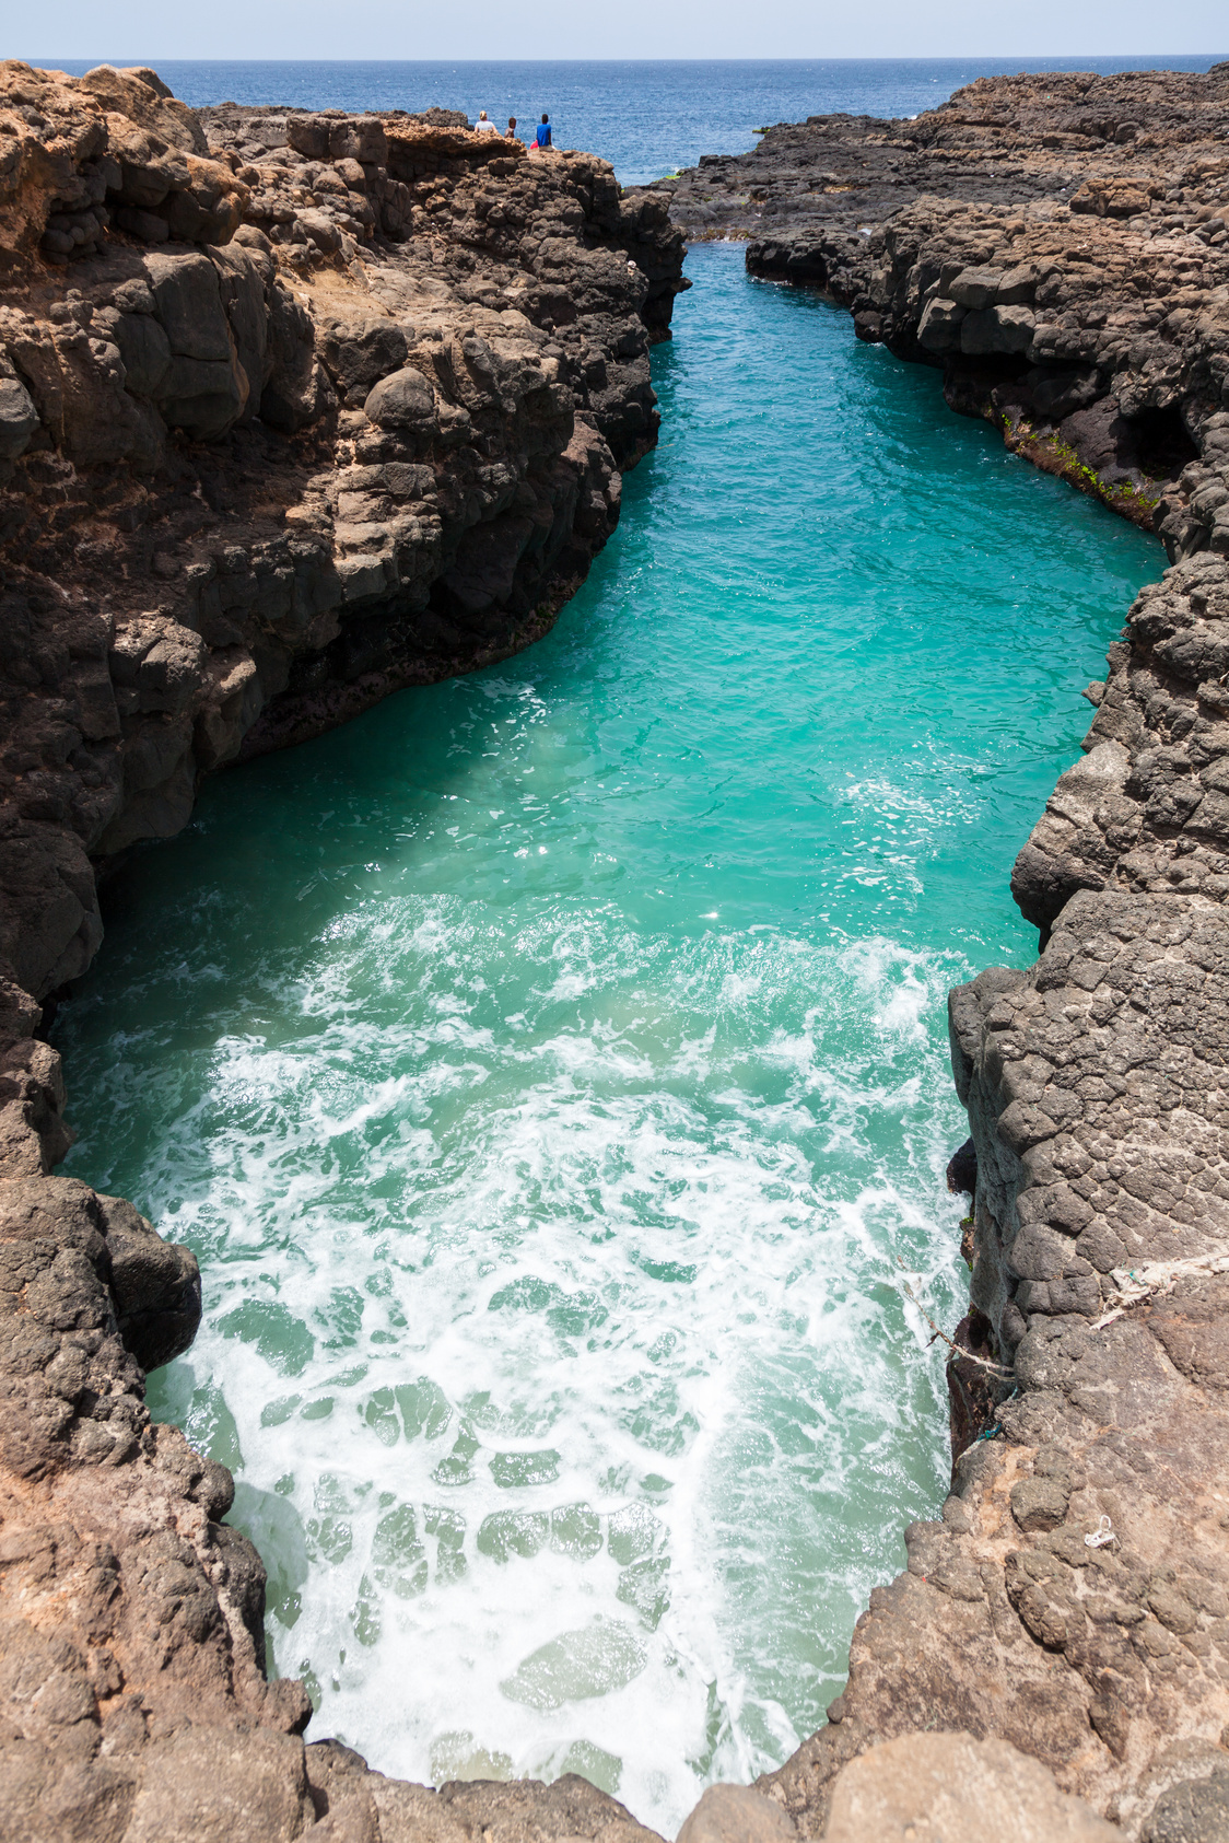
[[582,1769],[669,1832],[814,1725],[942,1495],[895,1255],[949,1286],[949,979],[396,898],[276,1039],[217,1039],[162,1154],[210,1261],[170,1406],[234,1428],[321,1731],[415,1778]]

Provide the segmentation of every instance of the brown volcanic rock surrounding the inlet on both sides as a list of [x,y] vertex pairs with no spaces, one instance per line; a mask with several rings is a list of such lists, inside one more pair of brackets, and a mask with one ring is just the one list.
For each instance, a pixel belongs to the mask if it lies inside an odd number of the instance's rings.
[[230,1478],[144,1406],[195,1262],[52,1176],[39,1028],[96,870],[203,774],[545,630],[656,439],[682,230],[750,236],[1176,560],[1021,853],[1037,966],[953,993],[953,1497],[829,1725],[685,1843],[1227,1834],[1227,131],[1225,66],[999,79],[667,199],[439,111],[0,66],[0,1836],[649,1837],[575,1777],[427,1791],[304,1745]]

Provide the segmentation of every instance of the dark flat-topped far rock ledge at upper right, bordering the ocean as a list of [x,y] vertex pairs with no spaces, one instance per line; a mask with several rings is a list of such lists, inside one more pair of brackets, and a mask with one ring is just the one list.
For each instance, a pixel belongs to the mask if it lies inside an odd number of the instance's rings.
[[1225,555],[1205,424],[1229,407],[1227,135],[1229,65],[982,77],[914,120],[776,127],[660,188],[1172,557]]

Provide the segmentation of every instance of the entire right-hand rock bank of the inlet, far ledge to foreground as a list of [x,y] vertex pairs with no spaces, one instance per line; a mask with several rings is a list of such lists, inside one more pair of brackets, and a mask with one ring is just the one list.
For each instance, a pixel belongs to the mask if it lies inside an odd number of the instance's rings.
[[953,409],[1172,560],[1089,686],[1083,759],[1015,864],[1041,958],[951,995],[975,1154],[953,1161],[975,1189],[953,1495],[872,1594],[829,1725],[759,1790],[802,1836],[846,1834],[849,1762],[956,1729],[1032,1755],[1128,1837],[1212,1843],[1229,1836],[1229,66],[978,81],[912,122],[774,129],[665,186],[680,223],[748,238],[752,273],[822,288],[859,337],[942,367]]

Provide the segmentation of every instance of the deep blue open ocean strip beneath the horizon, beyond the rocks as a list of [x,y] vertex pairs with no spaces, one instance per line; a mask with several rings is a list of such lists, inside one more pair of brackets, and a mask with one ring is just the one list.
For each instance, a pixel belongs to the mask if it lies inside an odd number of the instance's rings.
[[[131,52],[131,48],[129,48]],[[1229,53],[1222,53],[1229,55]],[[147,59],[131,52],[114,65]],[[975,77],[1004,70],[1207,70],[1216,57],[1082,59],[715,59],[709,63],[177,63],[158,74],[184,101],[295,103],[302,109],[464,109],[510,114],[527,138],[545,109],[560,147],[610,160],[623,184],[695,166],[702,153],[743,153],[755,129],[809,114],[912,116]],[[81,59],[35,63],[81,76]]]

